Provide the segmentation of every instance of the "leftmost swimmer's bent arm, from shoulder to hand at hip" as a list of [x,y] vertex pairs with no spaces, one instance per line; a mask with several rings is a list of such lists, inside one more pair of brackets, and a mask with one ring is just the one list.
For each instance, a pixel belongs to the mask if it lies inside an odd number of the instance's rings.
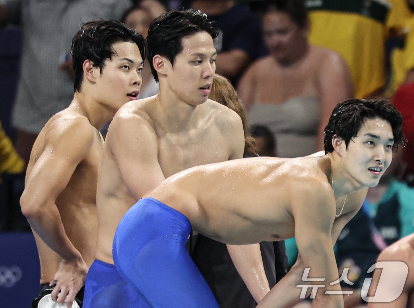
[[85,128],[85,123],[73,120],[64,132],[58,132],[56,128],[46,138],[43,152],[26,174],[20,205],[32,229],[62,257],[51,282],[56,284],[52,296],[56,299],[61,291],[58,302],[63,303],[68,295],[67,303],[71,306],[84,284],[88,267],[67,237],[55,202],[89,152],[94,132],[87,126]]

